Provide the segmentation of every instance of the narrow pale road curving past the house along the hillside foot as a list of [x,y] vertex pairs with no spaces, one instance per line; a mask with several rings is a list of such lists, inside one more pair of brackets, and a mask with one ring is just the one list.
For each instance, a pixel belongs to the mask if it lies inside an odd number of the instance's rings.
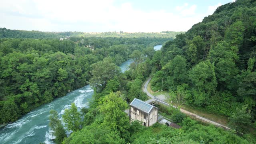
[[[142,85],[142,90],[143,90],[143,92],[145,92],[150,98],[153,99],[153,100],[148,100],[148,101],[149,101],[149,102],[150,102],[150,101],[156,101],[156,102],[160,102],[160,103],[162,103],[162,104],[165,104],[165,105],[167,105],[167,106],[171,106],[170,104],[168,104],[168,102],[165,102],[164,100],[159,99],[159,98],[155,98],[152,94],[150,94],[150,93],[148,92],[147,87],[148,87],[148,83],[150,82],[150,80],[151,80],[151,78],[148,78],[148,79],[146,80],[146,82],[144,82],[144,85]],[[177,108],[176,106],[172,106],[172,107]],[[225,129],[227,129],[227,130],[231,130],[231,129],[228,128],[227,126],[224,126],[224,125],[222,125],[222,124],[220,124],[220,123],[218,123],[218,122],[214,122],[214,121],[212,121],[212,120],[209,120],[209,119],[207,119],[207,118],[204,118],[204,117],[202,117],[202,116],[198,116],[197,114],[194,114],[194,113],[189,112],[189,111],[187,111],[187,110],[184,110],[184,109],[182,109],[182,108],[180,108],[180,111],[183,112],[184,114],[187,114],[187,115],[190,115],[190,116],[192,116],[192,117],[198,118],[199,120],[202,120],[202,121],[204,121],[204,122],[208,122],[208,123],[210,123],[210,124],[214,124],[215,126],[219,126],[219,127],[225,128]]]

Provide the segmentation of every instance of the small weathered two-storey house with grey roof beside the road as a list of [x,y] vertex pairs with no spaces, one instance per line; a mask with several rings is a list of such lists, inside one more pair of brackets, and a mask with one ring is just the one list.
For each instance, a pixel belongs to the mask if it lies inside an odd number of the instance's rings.
[[137,98],[130,103],[130,122],[139,120],[144,126],[152,126],[158,120],[158,108]]

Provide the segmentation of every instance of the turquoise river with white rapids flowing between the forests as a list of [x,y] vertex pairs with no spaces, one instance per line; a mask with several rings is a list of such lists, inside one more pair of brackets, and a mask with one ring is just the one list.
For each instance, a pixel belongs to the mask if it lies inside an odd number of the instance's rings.
[[[124,62],[120,66],[122,72],[128,70],[128,66],[132,62],[133,60]],[[38,144],[40,142],[53,144],[51,141],[53,137],[50,135],[48,127],[50,110],[56,110],[61,118],[65,108],[70,108],[72,102],[78,108],[88,106],[92,94],[93,90],[90,85],[87,85],[32,110],[16,122],[0,129],[0,144]]]

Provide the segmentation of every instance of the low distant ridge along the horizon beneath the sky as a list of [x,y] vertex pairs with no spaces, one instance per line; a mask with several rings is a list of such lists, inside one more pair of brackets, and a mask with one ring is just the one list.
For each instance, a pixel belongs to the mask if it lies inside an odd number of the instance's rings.
[[116,37],[116,38],[175,38],[177,34],[184,32],[40,32],[40,31],[27,31],[27,30],[10,30],[0,28],[0,38],[65,38],[66,36],[72,37]]

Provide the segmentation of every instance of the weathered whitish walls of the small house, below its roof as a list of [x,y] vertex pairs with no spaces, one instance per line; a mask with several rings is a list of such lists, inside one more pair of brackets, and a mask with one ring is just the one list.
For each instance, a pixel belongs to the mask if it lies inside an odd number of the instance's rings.
[[130,108],[130,122],[139,120],[142,122],[142,125],[144,125],[144,122],[145,122],[146,126],[151,126],[157,122],[157,118],[158,118],[158,108],[154,107],[151,110],[150,114],[140,111],[134,107]]

